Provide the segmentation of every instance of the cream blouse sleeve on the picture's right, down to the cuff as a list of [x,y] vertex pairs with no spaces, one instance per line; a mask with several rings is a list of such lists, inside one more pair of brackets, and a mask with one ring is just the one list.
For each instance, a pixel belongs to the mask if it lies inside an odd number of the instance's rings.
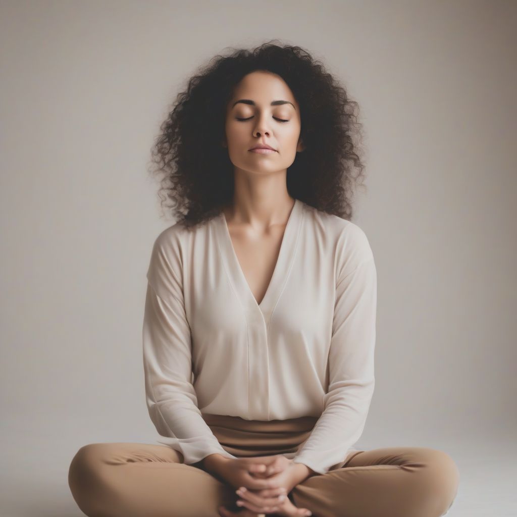
[[361,436],[374,391],[377,275],[371,252],[362,256],[337,280],[324,410],[293,458],[319,474],[341,463]]

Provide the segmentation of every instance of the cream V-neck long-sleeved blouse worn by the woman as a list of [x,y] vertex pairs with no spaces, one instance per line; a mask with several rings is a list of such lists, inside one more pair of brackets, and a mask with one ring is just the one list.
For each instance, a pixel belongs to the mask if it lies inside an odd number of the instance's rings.
[[362,434],[374,391],[377,276],[355,223],[296,200],[261,303],[220,215],[156,238],[143,323],[146,402],[186,464],[219,453],[202,414],[319,417],[296,453],[324,474]]

